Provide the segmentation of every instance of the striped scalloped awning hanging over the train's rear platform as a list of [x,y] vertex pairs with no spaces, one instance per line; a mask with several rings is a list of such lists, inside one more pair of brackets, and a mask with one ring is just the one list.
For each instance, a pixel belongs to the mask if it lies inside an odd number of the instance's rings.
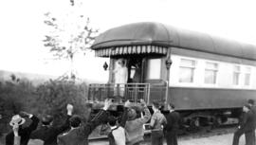
[[155,53],[165,55],[167,47],[158,45],[130,45],[130,46],[115,46],[101,48],[95,50],[95,55],[98,57],[109,57],[127,54],[146,54]]

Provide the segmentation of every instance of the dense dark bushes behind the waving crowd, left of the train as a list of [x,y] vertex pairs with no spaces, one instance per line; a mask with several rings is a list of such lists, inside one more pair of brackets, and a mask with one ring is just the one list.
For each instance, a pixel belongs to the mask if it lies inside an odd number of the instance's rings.
[[38,86],[31,82],[2,82],[0,83],[0,132],[9,130],[10,118],[24,110],[42,117],[52,115],[54,124],[61,123],[66,116],[66,104],[74,105],[74,114],[83,118],[89,117],[85,100],[87,85],[74,82],[48,81]]

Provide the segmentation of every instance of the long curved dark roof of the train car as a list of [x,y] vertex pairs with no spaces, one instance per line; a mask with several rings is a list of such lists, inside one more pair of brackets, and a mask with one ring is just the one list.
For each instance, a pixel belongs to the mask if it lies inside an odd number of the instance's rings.
[[125,45],[176,46],[214,54],[256,60],[256,46],[229,41],[161,23],[142,22],[111,28],[98,36],[91,46],[101,49]]

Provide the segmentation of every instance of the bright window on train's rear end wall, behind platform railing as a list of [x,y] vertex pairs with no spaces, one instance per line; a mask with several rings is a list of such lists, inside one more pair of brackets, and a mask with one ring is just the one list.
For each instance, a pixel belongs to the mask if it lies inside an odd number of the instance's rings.
[[147,79],[155,80],[161,77],[161,59],[149,59],[147,65]]

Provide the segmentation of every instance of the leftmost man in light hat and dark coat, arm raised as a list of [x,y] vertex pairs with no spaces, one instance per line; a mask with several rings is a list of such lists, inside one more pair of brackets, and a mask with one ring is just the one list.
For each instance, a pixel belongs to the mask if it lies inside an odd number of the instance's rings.
[[[29,124],[29,126],[24,127],[22,124],[25,123],[25,118],[30,118],[32,122]],[[14,126],[18,125],[18,136],[20,136],[20,145],[27,145],[27,141],[29,139],[29,136],[32,131],[34,131],[37,128],[39,122],[39,118],[27,114],[26,112],[21,112],[20,115],[15,115],[11,118],[11,121],[9,122],[9,125]],[[14,141],[14,134],[13,131],[11,131],[6,136],[6,145],[13,145]]]

